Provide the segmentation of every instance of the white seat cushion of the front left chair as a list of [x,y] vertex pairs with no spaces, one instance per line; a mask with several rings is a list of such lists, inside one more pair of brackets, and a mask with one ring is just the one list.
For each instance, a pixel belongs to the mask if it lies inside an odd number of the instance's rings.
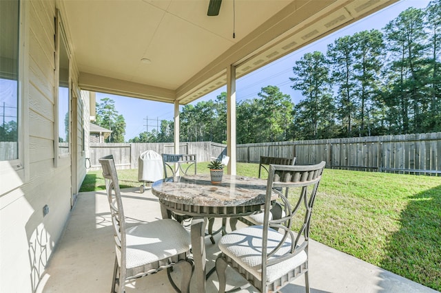
[[147,272],[150,267],[165,265],[170,261],[169,258],[185,253],[191,245],[187,230],[173,219],[140,224],[126,231],[127,275],[136,275]]

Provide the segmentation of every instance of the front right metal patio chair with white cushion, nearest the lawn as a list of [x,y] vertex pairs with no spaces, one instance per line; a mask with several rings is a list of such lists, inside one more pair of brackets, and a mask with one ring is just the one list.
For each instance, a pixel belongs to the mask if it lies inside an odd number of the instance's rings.
[[[309,226],[324,168],[325,162],[269,165],[263,225],[232,231],[219,241],[216,272],[220,293],[225,292],[228,265],[260,292],[276,292],[302,274],[309,292]],[[289,188],[287,196],[280,188]],[[271,220],[269,208],[274,193],[283,201],[286,216]],[[298,230],[291,230],[291,226]]]

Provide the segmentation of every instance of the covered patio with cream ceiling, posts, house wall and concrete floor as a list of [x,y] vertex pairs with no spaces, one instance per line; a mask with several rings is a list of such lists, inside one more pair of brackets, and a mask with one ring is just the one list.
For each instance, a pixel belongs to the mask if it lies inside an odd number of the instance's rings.
[[[179,107],[226,85],[234,175],[236,79],[397,1],[224,0],[217,17],[207,17],[209,0],[0,1],[1,77],[14,83],[19,118],[17,153],[0,160],[0,291],[110,291],[107,199],[79,193],[94,92],[174,105],[178,153]],[[127,221],[161,215],[148,192],[128,190],[124,200]],[[216,246],[209,252],[208,270]],[[310,263],[313,292],[433,292],[320,243]],[[172,292],[165,273],[132,287]],[[296,290],[301,283],[284,292]],[[215,275],[208,291],[216,292]]]

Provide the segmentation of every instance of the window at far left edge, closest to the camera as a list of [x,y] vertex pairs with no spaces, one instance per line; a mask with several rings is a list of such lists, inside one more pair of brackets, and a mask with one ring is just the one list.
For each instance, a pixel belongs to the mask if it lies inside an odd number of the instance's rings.
[[[0,161],[19,159],[19,1],[0,1]],[[14,164],[18,166],[18,164]]]

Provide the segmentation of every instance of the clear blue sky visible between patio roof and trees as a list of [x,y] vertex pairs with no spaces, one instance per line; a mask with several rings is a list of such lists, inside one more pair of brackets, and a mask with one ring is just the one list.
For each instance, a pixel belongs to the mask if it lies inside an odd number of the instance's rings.
[[[429,4],[429,0],[402,0],[398,1],[388,8],[376,12],[375,14],[348,25],[347,27],[331,34],[315,43],[303,47],[294,53],[291,53],[283,58],[274,61],[273,63],[262,67],[247,76],[243,76],[236,82],[236,99],[246,100],[257,97],[257,94],[263,87],[268,85],[276,85],[280,88],[283,94],[291,96],[291,100],[296,103],[300,100],[300,96],[291,89],[290,77],[293,77],[292,67],[295,62],[300,59],[307,52],[321,51],[326,52],[327,45],[333,43],[334,39],[340,36],[346,36],[360,32],[362,30],[371,30],[376,28],[381,30],[392,19],[396,18],[400,12],[406,10],[409,7],[425,8]],[[216,96],[222,91],[227,91],[226,87],[221,87],[211,94],[196,100],[192,104],[201,102],[202,100],[215,100]],[[148,131],[156,128],[157,120],[173,120],[173,104],[167,104],[163,102],[153,102],[148,100],[142,100],[138,98],[127,98],[122,96],[115,96],[110,94],[96,93],[96,102],[99,102],[101,98],[111,98],[115,101],[116,110],[124,116],[125,127],[125,140],[134,138],[139,133],[147,130],[147,118],[148,118]],[[159,122],[161,124],[161,122]]]

